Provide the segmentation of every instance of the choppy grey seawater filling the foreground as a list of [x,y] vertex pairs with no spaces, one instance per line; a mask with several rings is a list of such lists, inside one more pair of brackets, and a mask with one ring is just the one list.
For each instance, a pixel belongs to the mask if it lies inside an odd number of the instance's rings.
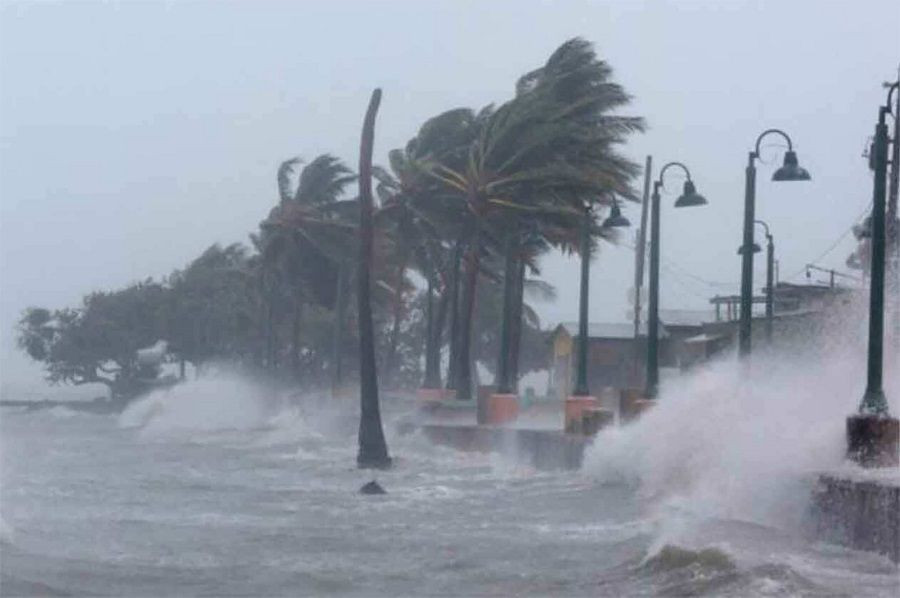
[[[655,434],[601,436],[585,471],[544,473],[388,423],[396,467],[377,477],[389,493],[362,496],[371,474],[354,467],[350,418],[254,397],[222,381],[121,416],[3,410],[3,595],[900,591],[882,557],[809,541],[779,509],[769,521],[710,498],[749,491],[747,504],[769,505],[767,480],[754,497],[743,480],[716,493],[684,479],[676,460],[724,473],[697,450],[709,438],[679,449],[648,424]],[[388,419],[403,409],[388,405]],[[802,476],[792,484],[804,491]]]

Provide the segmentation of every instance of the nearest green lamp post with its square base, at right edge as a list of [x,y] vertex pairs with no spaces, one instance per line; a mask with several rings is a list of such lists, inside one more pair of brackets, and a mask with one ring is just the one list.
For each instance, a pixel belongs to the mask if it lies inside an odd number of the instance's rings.
[[[869,347],[866,370],[866,391],[859,405],[859,413],[847,418],[847,448],[849,456],[863,466],[897,465],[897,445],[900,422],[888,414],[887,399],[882,386],[884,366],[884,266],[885,266],[885,192],[887,179],[888,130],[885,115],[891,109],[891,95],[887,105],[879,106],[875,126],[873,163],[875,182],[872,189],[872,265],[869,277]],[[897,143],[897,140],[894,140]]]

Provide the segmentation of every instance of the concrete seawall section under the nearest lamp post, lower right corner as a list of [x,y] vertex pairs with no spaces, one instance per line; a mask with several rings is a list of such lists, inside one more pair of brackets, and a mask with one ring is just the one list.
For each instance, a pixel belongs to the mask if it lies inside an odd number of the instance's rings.
[[900,483],[896,477],[823,474],[813,495],[819,539],[900,562]]

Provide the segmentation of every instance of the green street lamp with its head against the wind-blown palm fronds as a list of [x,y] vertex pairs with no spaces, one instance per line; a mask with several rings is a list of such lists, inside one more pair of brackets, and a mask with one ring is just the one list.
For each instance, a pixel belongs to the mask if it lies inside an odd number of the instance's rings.
[[[590,337],[588,336],[588,286],[591,271],[591,229],[594,223],[593,203],[588,202],[584,207],[584,215],[581,221],[581,239],[579,241],[579,253],[581,254],[581,288],[578,297],[578,354],[575,362],[575,387],[572,395],[566,397],[565,424],[567,432],[580,431],[581,416],[584,409],[596,404],[596,399],[591,396],[588,385],[587,354]],[[628,218],[622,215],[619,202],[614,198],[609,217],[603,221],[603,228],[620,228],[630,226]]]

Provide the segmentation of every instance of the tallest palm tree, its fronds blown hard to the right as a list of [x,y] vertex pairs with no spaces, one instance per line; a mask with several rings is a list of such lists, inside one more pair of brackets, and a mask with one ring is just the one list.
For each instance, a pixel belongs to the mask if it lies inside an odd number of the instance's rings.
[[[609,81],[610,75],[589,43],[569,40],[543,67],[519,80],[512,100],[486,115],[463,169],[433,164],[433,176],[454,189],[467,208],[456,363],[460,398],[471,397],[472,309],[486,244],[497,247],[498,239],[506,239],[503,253],[513,260],[510,254],[517,251],[517,231],[523,222],[541,223],[557,216],[571,219],[582,212],[587,198],[602,197],[610,190],[631,194],[628,184],[637,167],[613,148],[627,134],[640,130],[642,121],[607,114],[628,101],[621,87]],[[505,271],[510,273],[507,284],[514,284],[514,264],[507,263]],[[516,293],[506,295],[514,298]],[[506,311],[508,335],[512,313]],[[501,360],[508,358],[507,347]]]

